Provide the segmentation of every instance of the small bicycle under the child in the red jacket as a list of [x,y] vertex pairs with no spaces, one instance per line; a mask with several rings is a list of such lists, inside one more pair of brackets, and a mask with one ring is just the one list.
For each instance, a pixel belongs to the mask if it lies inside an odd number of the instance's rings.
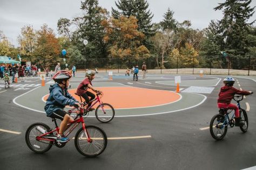
[[[244,99],[243,95],[234,96],[233,100],[237,102],[239,108],[239,116],[241,117],[241,122],[244,122],[244,125],[239,126],[242,132],[248,130],[248,116],[244,109],[240,106],[240,101]],[[221,140],[225,137],[228,128],[233,128],[235,125],[234,114],[230,118],[229,114],[232,112],[232,109],[223,109],[219,110],[219,114],[214,115],[210,123],[210,132],[214,139]]]

